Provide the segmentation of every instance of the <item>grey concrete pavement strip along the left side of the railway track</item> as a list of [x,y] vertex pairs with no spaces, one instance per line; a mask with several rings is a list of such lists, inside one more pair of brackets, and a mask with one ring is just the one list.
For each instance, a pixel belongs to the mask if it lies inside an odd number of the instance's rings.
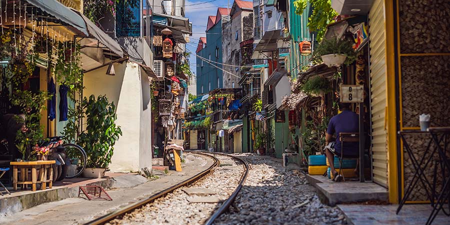
[[[112,201],[67,198],[61,201],[43,203],[9,216],[0,217],[0,224],[82,224],[179,183],[206,169],[212,163],[212,159],[209,157],[194,157],[189,153],[184,154],[186,154],[186,162],[183,163],[183,171],[170,172],[169,175],[161,175],[156,180],[134,187],[119,187],[107,190],[113,199]],[[126,186],[124,185],[126,180],[120,180],[120,177],[117,177],[118,185]]]

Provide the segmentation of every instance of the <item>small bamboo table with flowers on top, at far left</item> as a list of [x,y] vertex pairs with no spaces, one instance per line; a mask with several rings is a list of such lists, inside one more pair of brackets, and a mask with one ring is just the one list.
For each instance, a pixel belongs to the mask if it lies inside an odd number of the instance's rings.
[[[40,189],[44,190],[46,184],[51,188],[53,185],[53,168],[54,160],[38,160],[38,161],[11,161],[12,167],[12,185],[17,190],[17,184],[22,184],[22,189],[26,189],[27,184],[32,185],[32,190],[36,190],[36,183],[40,183]],[[20,169],[20,180],[17,179],[17,172]],[[31,180],[28,177],[28,169],[31,169]],[[39,170],[39,174],[37,173]],[[39,180],[37,180],[39,175]],[[47,177],[48,176],[48,177]],[[47,179],[48,178],[48,179]]]

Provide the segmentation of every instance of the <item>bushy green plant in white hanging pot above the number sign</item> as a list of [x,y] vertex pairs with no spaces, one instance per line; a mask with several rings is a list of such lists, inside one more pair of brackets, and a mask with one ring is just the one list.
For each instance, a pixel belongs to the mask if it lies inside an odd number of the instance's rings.
[[323,39],[314,51],[314,58],[320,57],[327,66],[340,66],[342,63],[351,64],[356,60],[353,49],[354,42],[346,39]]

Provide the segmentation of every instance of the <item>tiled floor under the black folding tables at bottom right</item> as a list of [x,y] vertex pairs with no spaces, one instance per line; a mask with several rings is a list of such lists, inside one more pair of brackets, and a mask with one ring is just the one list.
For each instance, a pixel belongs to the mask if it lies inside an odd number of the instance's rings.
[[[339,204],[337,207],[353,225],[422,225],[432,210],[429,204],[406,204],[396,215],[398,205]],[[440,211],[433,224],[450,224],[450,219]]]

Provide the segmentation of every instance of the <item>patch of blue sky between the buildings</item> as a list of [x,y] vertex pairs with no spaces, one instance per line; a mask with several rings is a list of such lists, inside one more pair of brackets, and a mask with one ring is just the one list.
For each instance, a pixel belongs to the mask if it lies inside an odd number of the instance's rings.
[[[185,5],[196,4],[200,2],[205,2],[209,0],[186,0]],[[229,7],[232,6],[233,0],[229,0]],[[198,44],[198,39],[200,36],[205,36],[206,23],[208,15],[215,15],[217,12],[217,7],[227,7],[228,0],[214,0],[212,2],[185,6],[185,15],[192,22],[192,36],[190,37],[190,43],[186,44],[186,48],[191,51],[191,56],[189,57],[189,63],[191,70],[195,73],[196,58],[195,49]]]

